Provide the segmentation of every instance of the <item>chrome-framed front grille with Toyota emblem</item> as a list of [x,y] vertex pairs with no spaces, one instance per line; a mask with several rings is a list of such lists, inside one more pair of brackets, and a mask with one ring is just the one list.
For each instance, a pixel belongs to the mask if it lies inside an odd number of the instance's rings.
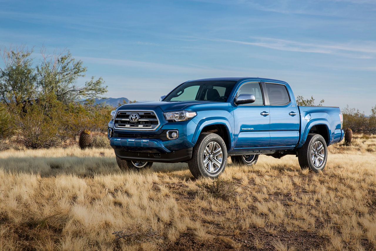
[[114,119],[116,129],[155,130],[159,120],[154,111],[119,110]]

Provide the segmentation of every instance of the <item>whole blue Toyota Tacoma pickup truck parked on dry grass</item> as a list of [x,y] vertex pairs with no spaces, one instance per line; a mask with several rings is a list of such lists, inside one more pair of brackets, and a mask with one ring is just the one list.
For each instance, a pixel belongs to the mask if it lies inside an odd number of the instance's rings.
[[184,82],[156,102],[111,112],[110,145],[121,170],[188,162],[193,176],[216,178],[260,154],[296,155],[302,169],[325,167],[327,146],[343,139],[338,107],[298,106],[287,82],[208,78]]

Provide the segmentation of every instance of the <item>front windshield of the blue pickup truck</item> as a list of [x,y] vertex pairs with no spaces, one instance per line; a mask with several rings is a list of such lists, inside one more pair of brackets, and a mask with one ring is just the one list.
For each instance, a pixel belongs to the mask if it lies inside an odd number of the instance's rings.
[[176,87],[163,101],[206,100],[226,102],[236,81],[186,82]]

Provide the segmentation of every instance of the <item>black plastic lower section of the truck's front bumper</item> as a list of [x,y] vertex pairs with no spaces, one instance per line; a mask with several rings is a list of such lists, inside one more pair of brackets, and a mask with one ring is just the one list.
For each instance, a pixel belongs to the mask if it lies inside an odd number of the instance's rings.
[[187,148],[167,153],[125,152],[115,149],[115,155],[122,160],[177,163],[190,160],[192,157],[192,151],[193,148]]

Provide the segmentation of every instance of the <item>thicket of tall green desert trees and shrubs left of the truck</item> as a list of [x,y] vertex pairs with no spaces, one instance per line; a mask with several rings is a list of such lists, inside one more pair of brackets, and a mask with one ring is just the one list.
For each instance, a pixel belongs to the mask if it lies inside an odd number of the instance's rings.
[[0,140],[15,133],[27,148],[44,148],[81,128],[105,132],[111,108],[94,105],[107,91],[103,79],[77,86],[87,69],[68,50],[49,55],[42,48],[39,62],[32,53],[25,46],[0,47]]

